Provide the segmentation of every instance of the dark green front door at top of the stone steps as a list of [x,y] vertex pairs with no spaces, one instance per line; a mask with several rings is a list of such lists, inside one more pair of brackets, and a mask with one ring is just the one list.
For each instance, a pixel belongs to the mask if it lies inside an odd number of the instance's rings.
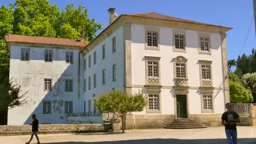
[[187,95],[177,94],[177,118],[187,118]]

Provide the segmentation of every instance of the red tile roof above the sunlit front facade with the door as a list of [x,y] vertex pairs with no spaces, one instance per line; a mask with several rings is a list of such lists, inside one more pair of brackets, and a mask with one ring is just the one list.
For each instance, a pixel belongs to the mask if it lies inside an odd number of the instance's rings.
[[[202,22],[196,22],[196,21],[190,21],[190,20],[185,20],[185,19],[179,19],[177,17],[161,15],[161,14],[157,14],[157,13],[154,13],[154,12],[150,12],[150,13],[137,13],[137,14],[123,14],[123,15],[125,15],[125,16],[134,16],[134,17],[143,17],[143,18],[156,19],[156,20],[184,22],[184,23],[191,23],[191,24],[196,24],[196,25],[222,27],[222,26],[211,25],[211,24],[202,23]],[[229,28],[229,27],[223,27],[223,28]],[[229,29],[232,29],[232,28],[229,28]]]

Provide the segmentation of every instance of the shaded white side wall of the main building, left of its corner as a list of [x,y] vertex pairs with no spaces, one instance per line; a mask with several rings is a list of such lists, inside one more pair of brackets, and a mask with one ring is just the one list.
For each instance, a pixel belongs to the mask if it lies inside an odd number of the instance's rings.
[[[112,39],[116,38],[117,50],[112,53]],[[88,112],[88,101],[91,100],[91,111],[94,111],[93,94],[98,97],[100,94],[111,91],[112,88],[124,90],[124,45],[123,45],[123,27],[117,29],[109,35],[108,38],[101,41],[89,53],[84,56],[86,58],[86,70],[84,71],[84,79],[86,79],[86,91],[84,92],[84,100],[86,101],[86,112]],[[102,46],[106,46],[106,58],[102,59]],[[94,65],[94,52],[96,51],[96,64]],[[91,68],[89,68],[89,56],[91,55]],[[112,81],[112,66],[117,64],[117,80]],[[106,85],[102,85],[102,70],[106,70]],[[94,88],[94,74],[97,75],[97,87]],[[91,76],[91,90],[89,87],[89,79]]]

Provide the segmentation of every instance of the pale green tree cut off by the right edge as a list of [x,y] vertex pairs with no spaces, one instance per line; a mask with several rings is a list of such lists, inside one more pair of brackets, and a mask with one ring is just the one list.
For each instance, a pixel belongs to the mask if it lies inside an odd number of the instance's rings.
[[252,92],[254,102],[256,100],[256,73],[245,74],[241,79],[242,85]]

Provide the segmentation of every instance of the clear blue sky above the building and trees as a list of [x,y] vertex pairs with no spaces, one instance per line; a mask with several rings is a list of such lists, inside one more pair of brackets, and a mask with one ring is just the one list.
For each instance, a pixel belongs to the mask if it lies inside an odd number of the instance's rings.
[[[0,5],[9,5],[10,2],[15,0],[1,0]],[[96,22],[102,23],[102,26],[108,23],[107,10],[112,7],[116,8],[118,15],[154,11],[182,19],[232,27],[227,33],[228,59],[237,59],[253,17],[252,0],[50,0],[50,3],[57,4],[61,10],[65,10],[69,3],[74,3],[75,8],[79,4],[83,5],[88,8],[89,18],[94,18]],[[254,20],[242,53],[249,55],[252,48],[256,49]]]

